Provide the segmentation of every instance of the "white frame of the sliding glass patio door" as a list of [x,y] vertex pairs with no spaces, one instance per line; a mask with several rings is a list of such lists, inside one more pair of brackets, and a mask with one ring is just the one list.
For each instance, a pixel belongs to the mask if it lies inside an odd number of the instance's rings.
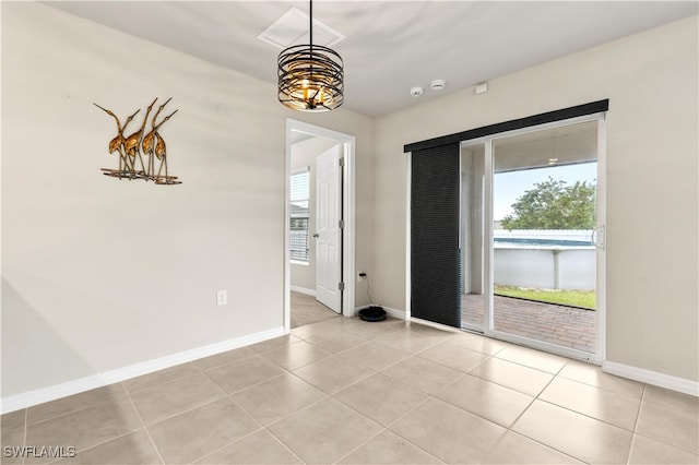
[[[597,121],[597,227],[602,230],[602,242],[606,242],[605,228],[606,228],[606,110],[583,116],[565,118],[553,122],[546,122],[542,124],[528,126],[525,128],[502,131],[491,133],[485,136],[478,136],[473,139],[465,139],[461,141],[461,148],[469,145],[484,144],[485,145],[485,172],[493,171],[493,142],[496,139],[502,139],[512,135],[519,135],[528,132],[543,131],[553,128],[559,128],[564,126],[570,126],[581,122]],[[411,315],[411,163],[412,152],[406,152],[406,220],[405,220],[405,318],[406,320],[416,320]],[[484,180],[484,200],[493,202],[493,178],[485,177]],[[484,224],[489,227],[484,227],[484,243],[493,243],[493,205],[485,208]],[[460,238],[461,240],[461,238]],[[519,345],[525,345],[535,349],[557,354],[570,358],[588,360],[597,365],[601,365],[606,357],[606,248],[603,246],[597,249],[596,253],[596,344],[595,354],[589,354],[583,350],[578,350],[569,347],[558,346],[550,343],[536,341],[529,337],[518,336],[502,331],[488,330],[494,327],[494,299],[493,299],[493,281],[494,281],[494,251],[493,247],[488,250],[484,250],[484,270],[486,271],[486,288],[488,288],[488,295],[486,296],[486,308],[484,309],[486,318],[489,319],[489,324],[483,327],[483,334],[488,337],[511,342]],[[422,322],[422,321],[420,321]],[[484,319],[485,322],[485,319]],[[433,325],[436,325],[433,323]],[[441,326],[441,325],[439,325]],[[445,326],[449,327],[449,326]],[[462,324],[463,327],[463,324]],[[463,330],[474,331],[474,330]],[[478,332],[479,333],[479,332]]]

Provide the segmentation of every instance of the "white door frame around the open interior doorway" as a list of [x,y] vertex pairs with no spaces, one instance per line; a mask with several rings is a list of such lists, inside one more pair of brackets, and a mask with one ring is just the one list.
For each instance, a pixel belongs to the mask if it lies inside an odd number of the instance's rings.
[[291,333],[292,329],[292,266],[289,260],[291,253],[291,235],[289,235],[289,199],[292,175],[292,132],[303,132],[313,136],[321,136],[337,141],[342,145],[342,156],[344,165],[342,167],[342,217],[344,219],[344,229],[342,234],[342,270],[341,279],[345,287],[342,293],[341,314],[345,317],[354,317],[355,314],[355,155],[356,155],[356,138],[351,134],[322,128],[320,126],[308,122],[286,119],[286,141],[285,141],[285,194],[284,194],[284,333]]

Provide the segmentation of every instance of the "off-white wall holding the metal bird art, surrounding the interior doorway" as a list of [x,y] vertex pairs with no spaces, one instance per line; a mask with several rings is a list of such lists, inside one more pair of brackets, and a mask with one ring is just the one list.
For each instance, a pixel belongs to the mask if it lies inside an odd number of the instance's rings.
[[[154,97],[179,108],[161,132],[183,183],[103,176],[118,164],[116,124],[92,103],[123,120]],[[281,329],[286,118],[357,136],[357,211],[369,211],[371,119],[293,112],[272,84],[3,2],[3,398]],[[365,267],[369,225],[357,215]]]

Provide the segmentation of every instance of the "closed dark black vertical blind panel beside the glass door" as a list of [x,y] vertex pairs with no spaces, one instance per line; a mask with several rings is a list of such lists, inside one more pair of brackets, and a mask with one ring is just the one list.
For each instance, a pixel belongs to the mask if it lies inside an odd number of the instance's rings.
[[459,143],[412,153],[411,314],[461,327]]

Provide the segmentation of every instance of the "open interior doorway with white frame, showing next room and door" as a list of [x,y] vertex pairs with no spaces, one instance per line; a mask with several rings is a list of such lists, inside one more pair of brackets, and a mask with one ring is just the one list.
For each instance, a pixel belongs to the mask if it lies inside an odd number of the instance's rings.
[[[285,224],[288,227],[284,255],[287,333],[292,327],[292,301],[295,308],[305,302],[301,308],[308,311],[327,308],[354,315],[354,283],[345,278],[354,276],[354,136],[287,120]],[[294,325],[329,317],[308,318],[295,318]]]

